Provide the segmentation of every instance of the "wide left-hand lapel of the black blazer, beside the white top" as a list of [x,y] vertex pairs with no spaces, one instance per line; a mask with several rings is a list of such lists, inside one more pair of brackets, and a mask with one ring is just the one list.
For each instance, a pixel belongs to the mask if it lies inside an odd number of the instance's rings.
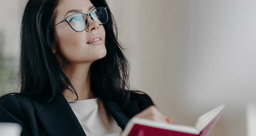
[[[64,96],[63,96],[64,98]],[[67,100],[46,105],[32,101],[39,120],[50,136],[86,136]]]

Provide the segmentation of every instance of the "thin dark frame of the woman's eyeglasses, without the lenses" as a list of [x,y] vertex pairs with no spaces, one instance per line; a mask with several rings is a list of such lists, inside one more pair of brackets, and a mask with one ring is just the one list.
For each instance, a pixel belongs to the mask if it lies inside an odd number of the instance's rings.
[[[103,24],[99,24],[99,25],[104,25],[104,24],[106,24],[106,23],[108,22],[107,7],[97,7],[97,8],[103,8],[103,9],[106,11],[106,13],[107,13],[107,21],[106,21],[105,23],[103,23]],[[93,10],[95,10],[95,9],[97,9],[97,8],[94,8]],[[92,11],[93,11],[93,10],[92,10]],[[59,25],[59,24],[62,23],[62,22],[67,22],[68,25],[69,25],[74,31],[76,31],[76,30],[71,26],[71,24],[69,23],[68,20],[69,20],[69,18],[70,18],[71,16],[73,16],[73,15],[75,15],[75,14],[84,14],[84,15],[86,16],[86,19],[88,20],[88,21],[87,21],[87,24],[86,24],[86,27],[84,28],[84,30],[85,30],[85,29],[88,27],[88,22],[89,22],[88,17],[90,16],[91,19],[93,20],[93,18],[92,18],[92,11],[91,11],[89,14],[85,14],[85,13],[82,13],[82,12],[74,13],[74,14],[72,14],[72,15],[66,17],[65,19],[63,19],[62,21],[60,21],[58,24],[54,25],[53,27]],[[93,21],[95,21],[95,20],[93,20]],[[97,21],[95,21],[95,22],[97,22]],[[53,27],[52,27],[52,28],[53,28]],[[76,32],[82,32],[82,31],[84,31],[84,30],[76,31]]]

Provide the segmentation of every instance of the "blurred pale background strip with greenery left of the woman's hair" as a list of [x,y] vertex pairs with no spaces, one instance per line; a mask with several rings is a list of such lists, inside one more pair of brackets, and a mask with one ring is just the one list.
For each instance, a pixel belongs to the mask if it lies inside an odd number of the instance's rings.
[[17,92],[21,15],[26,0],[0,1],[0,95]]

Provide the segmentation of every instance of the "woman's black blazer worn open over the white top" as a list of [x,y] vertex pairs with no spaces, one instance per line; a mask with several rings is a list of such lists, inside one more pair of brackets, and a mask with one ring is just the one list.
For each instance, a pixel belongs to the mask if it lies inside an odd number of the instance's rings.
[[[103,104],[124,130],[130,118],[153,102],[143,94],[132,93],[127,107],[133,110],[122,110],[110,100],[103,100]],[[65,98],[54,104],[42,104],[19,94],[5,95],[0,99],[0,122],[19,123],[23,128],[21,136],[86,136]]]

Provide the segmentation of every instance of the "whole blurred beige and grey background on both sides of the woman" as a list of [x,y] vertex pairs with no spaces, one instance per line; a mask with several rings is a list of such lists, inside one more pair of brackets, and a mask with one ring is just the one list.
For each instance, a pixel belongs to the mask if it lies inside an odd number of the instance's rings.
[[[209,136],[256,135],[255,0],[107,0],[130,61],[133,90],[175,124],[227,107]],[[18,90],[21,15],[0,1],[0,95]]]

